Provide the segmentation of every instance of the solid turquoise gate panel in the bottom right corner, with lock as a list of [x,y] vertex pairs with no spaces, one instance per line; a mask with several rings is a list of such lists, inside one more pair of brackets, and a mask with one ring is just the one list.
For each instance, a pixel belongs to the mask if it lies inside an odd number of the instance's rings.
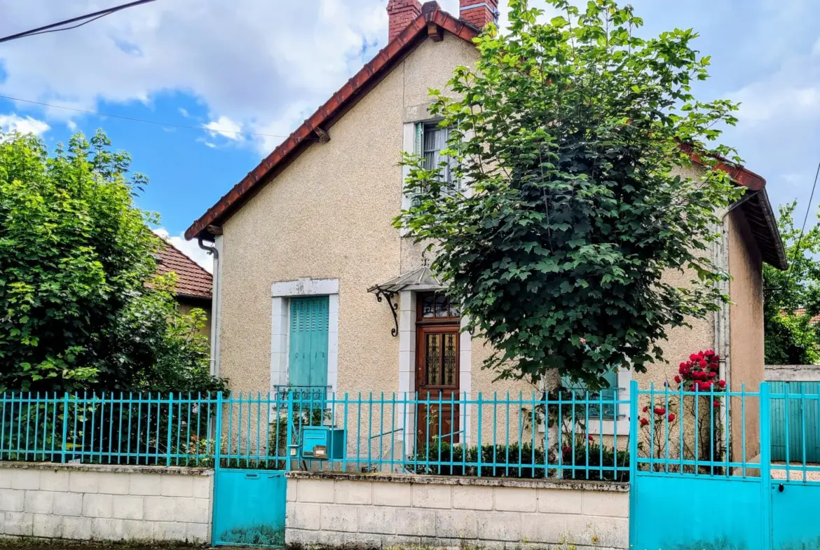
[[772,550],[820,548],[818,502],[818,483],[772,482]]

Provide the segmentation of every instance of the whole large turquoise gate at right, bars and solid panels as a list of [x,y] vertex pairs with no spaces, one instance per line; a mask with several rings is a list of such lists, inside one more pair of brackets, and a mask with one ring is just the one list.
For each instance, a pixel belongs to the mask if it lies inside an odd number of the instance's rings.
[[[632,383],[630,539],[635,550],[820,548],[820,465],[809,460],[804,416],[820,395],[639,390]],[[774,421],[773,421],[774,420]],[[791,421],[795,425],[791,425]],[[782,425],[777,425],[782,422]],[[772,460],[782,430],[803,444]],[[816,428],[815,428],[816,430]]]

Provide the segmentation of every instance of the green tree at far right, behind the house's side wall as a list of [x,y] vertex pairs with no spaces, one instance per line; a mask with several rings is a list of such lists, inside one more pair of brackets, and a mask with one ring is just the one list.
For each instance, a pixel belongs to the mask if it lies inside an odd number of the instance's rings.
[[[789,269],[763,266],[763,330],[767,365],[813,365],[820,362],[820,222],[795,228],[797,202],[782,205],[777,229],[786,245]],[[803,313],[796,312],[804,309]]]

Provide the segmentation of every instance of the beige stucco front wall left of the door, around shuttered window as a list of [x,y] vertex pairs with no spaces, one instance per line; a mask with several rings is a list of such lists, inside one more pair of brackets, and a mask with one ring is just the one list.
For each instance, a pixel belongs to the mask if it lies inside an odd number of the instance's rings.
[[[399,339],[385,302],[367,293],[399,275],[404,107],[429,102],[476,50],[445,34],[399,63],[375,89],[224,226],[221,374],[267,391],[271,283],[339,280],[339,391],[398,390]],[[443,62],[447,60],[447,62]]]

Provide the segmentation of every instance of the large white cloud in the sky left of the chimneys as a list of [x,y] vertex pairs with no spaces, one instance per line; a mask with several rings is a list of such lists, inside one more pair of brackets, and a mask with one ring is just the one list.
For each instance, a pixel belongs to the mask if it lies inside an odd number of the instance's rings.
[[[449,0],[450,4],[453,0]],[[458,2],[456,2],[458,3]],[[3,24],[27,29],[94,11],[96,0],[4,2]],[[387,36],[383,0],[174,0],[152,2],[80,29],[4,44],[0,93],[94,111],[99,102],[194,95],[223,130],[289,134],[362,66],[362,51]],[[367,61],[367,60],[364,60]],[[21,104],[20,108],[24,108]],[[37,107],[26,106],[26,109]],[[301,110],[300,110],[301,111]],[[76,119],[62,109],[46,120]],[[188,114],[180,111],[182,116]],[[230,120],[231,127],[221,124]],[[223,134],[235,139],[237,134]],[[276,144],[281,139],[276,139]],[[244,139],[262,152],[270,140]]]

